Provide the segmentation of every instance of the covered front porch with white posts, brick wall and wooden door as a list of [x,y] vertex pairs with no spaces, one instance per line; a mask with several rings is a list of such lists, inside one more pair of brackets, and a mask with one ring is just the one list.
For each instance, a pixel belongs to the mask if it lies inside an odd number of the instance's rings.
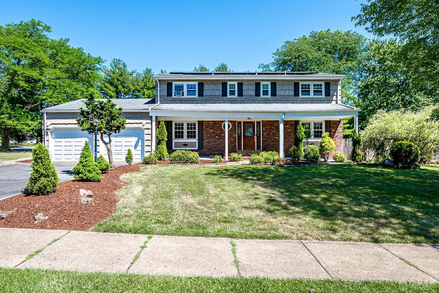
[[[165,108],[167,105],[162,106]],[[312,130],[309,144],[318,145],[323,133],[328,132],[335,141],[336,151],[342,151],[342,119],[357,117],[357,113],[353,109],[226,112],[165,111],[153,108],[151,109],[152,150],[155,150],[155,131],[163,118],[168,132],[169,153],[180,149],[193,150],[200,156],[219,154],[228,159],[232,152],[249,156],[260,151],[277,151],[281,157],[288,157],[299,121]]]

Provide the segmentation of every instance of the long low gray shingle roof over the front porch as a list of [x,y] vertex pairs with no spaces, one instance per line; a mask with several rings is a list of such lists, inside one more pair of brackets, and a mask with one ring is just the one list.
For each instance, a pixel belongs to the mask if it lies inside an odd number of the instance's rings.
[[345,104],[285,104],[285,103],[210,103],[210,104],[158,104],[151,107],[151,112],[190,111],[190,112],[315,112],[315,111],[359,111],[360,109]]

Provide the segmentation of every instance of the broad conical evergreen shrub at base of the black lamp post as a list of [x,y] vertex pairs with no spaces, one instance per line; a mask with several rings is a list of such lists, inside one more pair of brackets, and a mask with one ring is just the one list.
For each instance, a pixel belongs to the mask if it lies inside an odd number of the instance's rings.
[[101,170],[99,165],[93,161],[90,145],[86,142],[79,157],[79,163],[72,169],[73,177],[87,181],[101,182]]

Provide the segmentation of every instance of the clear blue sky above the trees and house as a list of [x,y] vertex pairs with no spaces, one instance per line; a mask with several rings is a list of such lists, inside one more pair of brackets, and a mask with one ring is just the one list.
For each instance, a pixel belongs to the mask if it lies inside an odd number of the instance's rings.
[[107,60],[123,59],[130,70],[150,67],[210,70],[227,62],[234,71],[257,70],[272,61],[285,40],[312,30],[356,30],[351,17],[365,0],[289,1],[2,1],[0,23],[39,19],[52,38]]

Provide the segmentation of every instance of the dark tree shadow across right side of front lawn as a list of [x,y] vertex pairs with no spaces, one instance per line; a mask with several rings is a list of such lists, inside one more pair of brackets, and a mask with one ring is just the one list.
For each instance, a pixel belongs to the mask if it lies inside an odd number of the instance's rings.
[[349,226],[374,242],[439,242],[439,170],[361,165],[305,168],[219,168],[207,175],[276,191],[265,212],[291,212],[325,222],[332,233]]

